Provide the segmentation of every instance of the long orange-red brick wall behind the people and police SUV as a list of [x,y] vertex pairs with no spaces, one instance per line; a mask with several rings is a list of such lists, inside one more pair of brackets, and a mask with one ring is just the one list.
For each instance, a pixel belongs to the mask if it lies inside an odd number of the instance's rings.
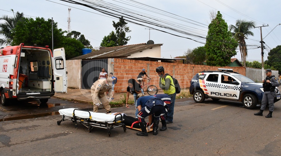
[[115,93],[125,93],[128,86],[128,80],[136,79],[138,74],[143,68],[147,75],[152,78],[151,85],[155,85],[159,88],[159,76],[155,69],[158,66],[164,66],[165,73],[175,77],[181,88],[189,88],[190,80],[192,77],[200,71],[217,71],[218,68],[231,68],[233,71],[246,76],[245,67],[218,67],[218,66],[205,66],[194,64],[182,64],[182,63],[166,63],[166,62],[154,62],[154,61],[139,61],[139,60],[126,60],[126,59],[114,59],[114,76],[117,77],[117,84],[114,87]]

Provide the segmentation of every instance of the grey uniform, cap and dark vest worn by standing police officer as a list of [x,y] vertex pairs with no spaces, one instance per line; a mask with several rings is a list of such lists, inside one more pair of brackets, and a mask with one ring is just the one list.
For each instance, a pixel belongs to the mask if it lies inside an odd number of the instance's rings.
[[[269,71],[269,70],[268,70]],[[271,70],[269,71],[271,72]],[[267,83],[266,80],[270,80],[270,83]],[[261,110],[264,110],[266,107],[266,103],[268,102],[269,104],[269,111],[274,110],[274,96],[275,96],[275,87],[278,87],[279,83],[277,78],[272,75],[270,77],[266,77],[263,83],[263,88],[264,88],[264,95],[263,95],[263,100],[262,100],[262,106]]]

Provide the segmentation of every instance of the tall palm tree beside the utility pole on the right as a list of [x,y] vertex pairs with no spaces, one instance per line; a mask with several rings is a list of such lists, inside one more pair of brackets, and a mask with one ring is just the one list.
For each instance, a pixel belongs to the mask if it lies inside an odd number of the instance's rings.
[[243,66],[246,66],[246,56],[248,55],[247,45],[245,39],[249,35],[254,36],[254,33],[250,30],[255,27],[255,22],[253,21],[245,21],[245,20],[236,20],[236,24],[229,25],[229,31],[232,32],[233,37],[239,43],[239,49],[241,53],[241,59],[243,61]]

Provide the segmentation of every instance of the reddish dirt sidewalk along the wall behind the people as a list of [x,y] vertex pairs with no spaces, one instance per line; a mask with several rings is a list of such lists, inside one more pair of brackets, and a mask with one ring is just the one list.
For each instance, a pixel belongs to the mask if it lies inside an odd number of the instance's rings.
[[[113,96],[113,102],[120,100],[122,97],[124,97],[124,94],[126,93],[115,93]],[[164,94],[163,90],[158,90],[157,94]],[[149,95],[147,92],[145,92],[145,96]],[[55,93],[53,97],[56,98],[63,98],[67,100],[74,100],[76,102],[80,103],[92,103],[92,98],[91,98],[91,91],[90,89],[72,89],[72,88],[67,88],[67,94],[61,94],[61,93]],[[108,96],[107,96],[108,97]],[[134,96],[131,95],[129,96],[129,100],[134,100]]]

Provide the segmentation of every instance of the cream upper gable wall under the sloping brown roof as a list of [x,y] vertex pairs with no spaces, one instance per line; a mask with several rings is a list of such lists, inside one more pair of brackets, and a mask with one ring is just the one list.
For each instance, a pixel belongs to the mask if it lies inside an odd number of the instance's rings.
[[155,46],[152,49],[146,49],[142,52],[131,54],[131,56],[128,56],[127,58],[136,57],[161,57],[161,46]]

